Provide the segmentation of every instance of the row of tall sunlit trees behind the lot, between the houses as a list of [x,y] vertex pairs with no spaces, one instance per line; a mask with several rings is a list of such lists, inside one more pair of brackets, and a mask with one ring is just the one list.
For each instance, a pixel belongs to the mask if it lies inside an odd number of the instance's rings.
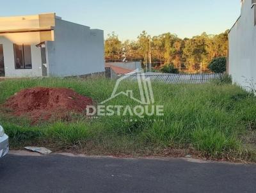
[[[202,35],[181,39],[172,33],[150,36],[146,31],[137,40],[120,41],[114,32],[105,41],[106,61],[143,61],[160,69],[173,65],[181,71],[207,71],[214,58],[226,57],[228,50],[228,31],[220,35]],[[151,53],[151,54],[150,54]]]

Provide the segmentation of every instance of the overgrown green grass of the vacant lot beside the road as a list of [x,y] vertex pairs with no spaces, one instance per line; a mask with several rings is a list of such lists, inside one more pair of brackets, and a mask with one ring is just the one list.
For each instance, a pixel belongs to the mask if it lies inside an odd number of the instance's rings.
[[[109,98],[115,82],[106,79],[16,79],[0,82],[0,104],[23,88],[72,88],[97,103]],[[237,86],[152,83],[156,104],[164,116],[104,116],[31,125],[1,107],[0,124],[12,148],[41,145],[56,151],[97,155],[186,155],[255,162],[256,98]],[[136,83],[124,82],[120,89]],[[139,93],[135,93],[139,96]],[[120,96],[108,104],[137,105]],[[128,121],[127,121],[128,120]],[[251,148],[252,147],[252,148]]]

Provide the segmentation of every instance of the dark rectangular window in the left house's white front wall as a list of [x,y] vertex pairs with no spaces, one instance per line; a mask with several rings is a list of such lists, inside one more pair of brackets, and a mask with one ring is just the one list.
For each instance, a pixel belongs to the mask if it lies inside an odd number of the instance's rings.
[[14,44],[15,69],[31,69],[31,45]]

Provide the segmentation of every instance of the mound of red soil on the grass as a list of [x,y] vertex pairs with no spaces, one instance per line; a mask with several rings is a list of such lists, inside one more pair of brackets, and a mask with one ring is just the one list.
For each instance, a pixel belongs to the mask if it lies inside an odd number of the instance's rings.
[[33,122],[65,118],[70,112],[82,113],[92,98],[67,88],[29,88],[8,99],[6,107],[16,116],[27,116]]

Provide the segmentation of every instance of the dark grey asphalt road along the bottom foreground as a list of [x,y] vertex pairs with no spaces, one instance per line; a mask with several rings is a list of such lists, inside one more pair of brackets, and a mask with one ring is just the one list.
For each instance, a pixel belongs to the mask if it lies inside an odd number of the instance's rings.
[[256,192],[256,166],[180,159],[8,155],[0,192]]

